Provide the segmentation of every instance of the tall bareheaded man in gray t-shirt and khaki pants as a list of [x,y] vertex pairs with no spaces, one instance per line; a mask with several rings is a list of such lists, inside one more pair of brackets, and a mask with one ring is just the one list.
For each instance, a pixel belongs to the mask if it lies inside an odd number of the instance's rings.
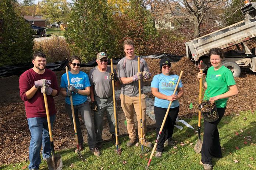
[[146,125],[146,101],[145,95],[143,94],[143,78],[149,79],[151,74],[149,68],[144,59],[140,60],[140,72],[138,72],[138,56],[134,54],[134,42],[132,40],[124,41],[124,52],[126,56],[120,60],[117,64],[118,78],[122,83],[121,88],[121,106],[124,111],[127,121],[127,131],[130,140],[127,142],[127,146],[131,147],[137,142],[135,124],[134,124],[134,111],[136,112],[136,118],[138,124],[140,124],[140,107],[139,107],[139,84],[138,80],[141,80],[141,106],[142,106],[142,135],[141,139],[141,128],[138,128],[139,142],[143,140],[143,145],[151,148],[152,143],[146,141],[145,134],[147,131]]

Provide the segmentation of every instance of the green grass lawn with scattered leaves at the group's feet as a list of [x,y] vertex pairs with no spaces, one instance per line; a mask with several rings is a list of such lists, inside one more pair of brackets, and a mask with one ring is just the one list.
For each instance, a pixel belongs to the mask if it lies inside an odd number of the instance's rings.
[[[197,117],[185,119],[197,129]],[[183,124],[179,124],[184,127]],[[203,128],[203,125],[202,125]],[[203,132],[203,129],[201,129]],[[250,170],[256,169],[256,119],[255,113],[251,111],[240,112],[239,115],[225,116],[218,125],[220,132],[220,143],[223,152],[223,158],[213,158],[214,170]],[[184,127],[183,130],[175,128],[173,138],[177,141],[177,149],[165,147],[161,159],[152,158],[149,169],[151,170],[202,170],[199,165],[201,155],[196,155],[193,147],[197,141],[197,134],[194,130]],[[149,130],[147,140],[156,139],[155,130]],[[74,149],[58,151],[63,160],[63,169],[72,170],[145,170],[151,151],[141,154],[141,146],[126,147],[127,137],[120,137],[122,142],[121,155],[115,153],[115,146],[112,143],[106,143],[101,149],[102,155],[93,156],[89,148],[86,147],[81,152],[84,162],[82,162]],[[181,145],[181,142],[185,144]],[[193,144],[191,144],[193,143]],[[237,148],[236,148],[237,147]],[[144,148],[144,150],[146,150]],[[235,160],[238,163],[235,163]],[[22,169],[28,166],[29,162],[21,162],[3,166],[2,169]],[[0,167],[1,169],[1,167]],[[46,161],[42,161],[40,169],[47,170]]]

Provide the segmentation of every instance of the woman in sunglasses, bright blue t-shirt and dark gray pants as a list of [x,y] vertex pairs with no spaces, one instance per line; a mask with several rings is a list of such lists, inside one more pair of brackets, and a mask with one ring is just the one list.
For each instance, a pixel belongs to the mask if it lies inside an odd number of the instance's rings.
[[95,148],[95,130],[92,121],[92,113],[90,111],[90,106],[87,100],[87,96],[90,95],[90,81],[88,75],[83,71],[79,70],[80,63],[80,58],[78,58],[77,56],[71,57],[71,61],[69,63],[71,70],[68,72],[70,85],[68,85],[67,73],[63,74],[61,77],[60,92],[63,96],[65,96],[65,108],[68,112],[68,116],[70,117],[70,121],[73,125],[73,117],[70,103],[70,96],[72,95],[75,123],[77,125],[79,152],[83,150],[83,136],[80,127],[78,113],[81,114],[83,123],[85,124],[85,127],[87,129],[88,145],[90,151],[93,152],[94,155],[99,156],[100,151],[97,148]]

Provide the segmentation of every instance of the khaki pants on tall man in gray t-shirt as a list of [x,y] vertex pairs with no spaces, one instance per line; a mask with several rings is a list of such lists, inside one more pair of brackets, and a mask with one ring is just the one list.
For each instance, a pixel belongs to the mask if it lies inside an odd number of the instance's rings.
[[[123,94],[120,95],[121,107],[124,111],[126,121],[127,121],[127,131],[130,139],[136,138],[135,125],[134,125],[134,111],[136,112],[136,118],[138,121],[138,135],[139,141],[141,142],[141,113],[139,109],[139,96],[129,97]],[[146,125],[146,101],[145,95],[141,95],[141,108],[142,108],[142,130],[143,130],[143,141],[145,141],[145,134],[147,131]]]

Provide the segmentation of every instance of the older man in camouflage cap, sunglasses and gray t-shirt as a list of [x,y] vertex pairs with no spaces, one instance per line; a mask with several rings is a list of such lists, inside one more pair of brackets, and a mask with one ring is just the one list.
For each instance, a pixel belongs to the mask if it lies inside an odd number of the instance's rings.
[[[92,111],[94,111],[96,147],[98,148],[102,147],[103,117],[105,112],[107,113],[107,119],[109,122],[109,132],[112,134],[112,141],[113,144],[115,144],[115,117],[112,80],[114,80],[115,86],[120,86],[120,81],[117,78],[115,70],[113,70],[114,74],[111,74],[111,67],[107,66],[107,61],[106,53],[98,53],[96,59],[98,65],[90,70],[89,74],[91,85],[90,98],[92,100]],[[118,123],[117,133],[119,133]],[[118,144],[120,144],[119,141]]]

